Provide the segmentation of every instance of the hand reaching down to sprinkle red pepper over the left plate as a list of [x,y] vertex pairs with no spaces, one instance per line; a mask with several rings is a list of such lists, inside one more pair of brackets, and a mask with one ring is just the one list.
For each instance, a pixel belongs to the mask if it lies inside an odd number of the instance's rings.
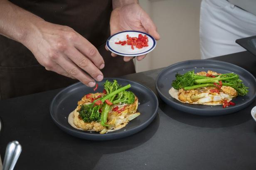
[[23,43],[46,68],[89,87],[103,79],[104,61],[96,47],[74,29],[41,21]]

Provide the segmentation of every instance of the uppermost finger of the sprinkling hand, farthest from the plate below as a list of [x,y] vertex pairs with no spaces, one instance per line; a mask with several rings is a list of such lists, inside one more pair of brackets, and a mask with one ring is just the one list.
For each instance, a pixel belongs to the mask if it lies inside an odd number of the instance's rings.
[[76,35],[74,41],[74,46],[78,49],[84,56],[88,57],[99,69],[104,68],[104,60],[101,54],[98,52],[95,46],[93,46],[87,39],[81,35]]

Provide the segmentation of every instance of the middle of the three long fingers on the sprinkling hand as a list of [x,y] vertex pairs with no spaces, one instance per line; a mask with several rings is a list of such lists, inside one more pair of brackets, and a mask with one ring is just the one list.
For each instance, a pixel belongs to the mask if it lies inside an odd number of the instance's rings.
[[66,51],[66,55],[71,61],[79,66],[79,68],[86,71],[95,80],[101,81],[103,79],[103,73],[89,60],[89,58],[86,58],[77,49],[69,49]]

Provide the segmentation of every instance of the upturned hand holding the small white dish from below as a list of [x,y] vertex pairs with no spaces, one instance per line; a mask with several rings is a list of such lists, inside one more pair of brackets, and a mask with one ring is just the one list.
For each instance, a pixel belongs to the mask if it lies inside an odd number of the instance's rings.
[[[155,24],[150,19],[148,14],[137,3],[116,7],[111,12],[111,35],[126,30],[147,32],[148,34],[152,35],[156,40],[160,39],[160,35],[157,32]],[[111,56],[116,57],[117,55],[111,53]],[[145,56],[146,54],[142,56],[137,56],[137,60],[140,61],[145,58]],[[133,57],[124,56],[123,58],[124,61],[130,61],[131,59],[133,59]]]

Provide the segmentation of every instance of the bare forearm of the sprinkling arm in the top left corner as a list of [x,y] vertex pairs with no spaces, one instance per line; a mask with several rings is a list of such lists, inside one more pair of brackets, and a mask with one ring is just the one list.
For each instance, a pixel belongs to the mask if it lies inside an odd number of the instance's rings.
[[42,18],[23,10],[8,0],[0,0],[0,34],[25,44],[35,25],[44,21]]

